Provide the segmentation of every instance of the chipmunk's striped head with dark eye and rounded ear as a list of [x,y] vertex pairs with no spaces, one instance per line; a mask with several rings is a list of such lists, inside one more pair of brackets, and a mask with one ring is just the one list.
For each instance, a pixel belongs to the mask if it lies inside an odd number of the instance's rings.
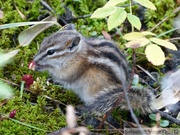
[[84,49],[82,39],[72,24],[45,38],[34,58],[35,69],[47,70],[51,75],[55,75],[71,67],[72,60],[75,61],[76,56]]

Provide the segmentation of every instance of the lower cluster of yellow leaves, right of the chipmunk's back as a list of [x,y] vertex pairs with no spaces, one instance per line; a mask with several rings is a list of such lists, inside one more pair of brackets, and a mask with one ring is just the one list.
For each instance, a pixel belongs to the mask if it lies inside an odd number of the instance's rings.
[[[145,55],[153,65],[159,66],[164,64],[165,54],[161,47],[163,46],[168,49],[177,50],[176,46],[166,40],[159,39],[157,37],[147,38],[147,36],[156,36],[152,32],[131,32],[124,35],[124,39],[129,42],[125,44],[128,48],[137,49],[145,46]],[[155,52],[156,51],[156,52]]]

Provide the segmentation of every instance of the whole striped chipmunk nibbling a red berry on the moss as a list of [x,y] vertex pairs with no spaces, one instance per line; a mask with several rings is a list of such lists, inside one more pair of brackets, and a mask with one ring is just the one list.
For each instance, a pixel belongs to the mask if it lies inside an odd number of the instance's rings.
[[[47,70],[54,82],[73,90],[86,111],[103,115],[119,98],[119,107],[128,109],[123,95],[128,64],[112,41],[85,38],[68,24],[43,40],[34,63],[35,70]],[[143,114],[153,110],[153,94],[148,89],[131,89],[128,96],[133,109]]]

